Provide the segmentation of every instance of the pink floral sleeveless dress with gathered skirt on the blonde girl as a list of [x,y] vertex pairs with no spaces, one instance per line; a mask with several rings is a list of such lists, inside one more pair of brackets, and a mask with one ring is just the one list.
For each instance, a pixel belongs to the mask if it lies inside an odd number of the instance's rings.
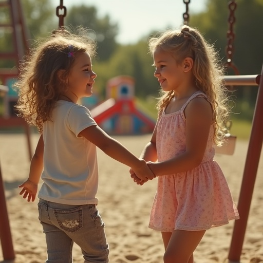
[[[204,97],[197,91],[180,111],[164,112],[158,119],[158,161],[165,161],[185,151],[184,109],[195,97]],[[211,125],[202,163],[183,173],[158,177],[149,228],[173,232],[174,230],[207,230],[238,219],[226,178],[215,160],[214,130]]]

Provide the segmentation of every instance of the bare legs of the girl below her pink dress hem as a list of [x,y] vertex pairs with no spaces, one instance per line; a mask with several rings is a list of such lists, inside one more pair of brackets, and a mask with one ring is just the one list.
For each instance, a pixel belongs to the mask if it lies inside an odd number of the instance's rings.
[[163,238],[163,240],[166,244],[166,249],[163,256],[164,263],[192,263],[193,252],[201,241],[204,233],[205,230],[175,230],[173,233],[171,233],[168,244],[168,234],[164,234],[163,236],[165,238]]

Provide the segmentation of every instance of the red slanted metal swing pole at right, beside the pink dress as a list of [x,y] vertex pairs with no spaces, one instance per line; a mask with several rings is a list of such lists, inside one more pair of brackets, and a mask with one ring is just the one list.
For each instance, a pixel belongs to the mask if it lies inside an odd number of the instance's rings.
[[[263,66],[261,76],[263,74]],[[250,204],[256,180],[257,168],[263,142],[263,79],[260,78],[257,101],[255,105],[252,130],[249,140],[246,164],[243,172],[243,179],[238,200],[238,212],[240,219],[235,221],[232,241],[228,259],[240,261],[243,241],[245,237],[247,221],[249,217]]]

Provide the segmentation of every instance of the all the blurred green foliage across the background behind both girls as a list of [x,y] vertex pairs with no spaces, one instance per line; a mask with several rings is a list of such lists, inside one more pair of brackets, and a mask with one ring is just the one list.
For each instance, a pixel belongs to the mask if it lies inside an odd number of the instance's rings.
[[[23,4],[26,25],[32,39],[49,34],[58,28],[59,18],[55,15],[55,4],[51,0],[21,0]],[[237,0],[234,24],[234,54],[233,62],[240,74],[259,74],[263,52],[263,1]],[[183,5],[183,3],[181,3]],[[165,8],[169,8],[168,6]],[[226,62],[227,30],[229,29],[228,1],[207,0],[204,11],[192,13],[191,3],[190,26],[197,27],[205,39],[214,44],[219,51],[222,62]],[[0,23],[10,21],[7,9],[0,10]],[[143,21],[142,21],[143,23]],[[147,40],[155,32],[149,32],[136,44],[120,45],[116,42],[118,25],[111,23],[110,15],[98,17],[93,6],[80,5],[67,7],[65,25],[90,28],[91,36],[98,43],[98,56],[93,59],[93,69],[97,73],[95,88],[103,100],[106,83],[118,75],[129,75],[135,78],[135,92],[140,101],[145,101],[149,95],[158,96],[159,83],[154,78],[153,58],[148,54]],[[12,49],[11,32],[0,30],[0,48],[4,51]],[[9,61],[2,60],[0,67],[12,67]],[[228,70],[228,74],[233,74]],[[252,120],[257,96],[257,87],[235,87],[233,95],[233,118]],[[231,102],[232,103],[232,102]],[[232,105],[232,104],[231,104]],[[154,110],[154,109],[153,109]]]

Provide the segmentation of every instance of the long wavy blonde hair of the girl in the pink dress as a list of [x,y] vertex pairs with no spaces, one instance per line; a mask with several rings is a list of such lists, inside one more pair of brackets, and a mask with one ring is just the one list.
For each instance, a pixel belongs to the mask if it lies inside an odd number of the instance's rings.
[[[167,30],[148,43],[153,55],[157,48],[171,53],[178,63],[185,58],[192,58],[193,74],[200,91],[205,93],[212,105],[214,119],[214,142],[222,144],[225,120],[229,116],[227,89],[223,85],[224,68],[213,45],[205,41],[201,33],[189,26],[180,30]],[[174,91],[161,92],[157,103],[158,115],[174,97]]]

